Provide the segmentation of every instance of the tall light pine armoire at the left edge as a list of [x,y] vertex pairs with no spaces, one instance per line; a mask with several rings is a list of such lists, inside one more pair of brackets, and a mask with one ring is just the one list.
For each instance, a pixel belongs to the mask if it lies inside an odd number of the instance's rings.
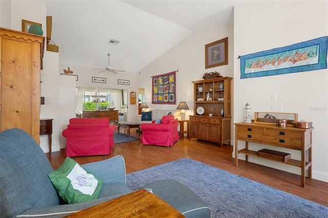
[[0,28],[0,36],[0,130],[20,128],[39,143],[45,37],[5,28]]

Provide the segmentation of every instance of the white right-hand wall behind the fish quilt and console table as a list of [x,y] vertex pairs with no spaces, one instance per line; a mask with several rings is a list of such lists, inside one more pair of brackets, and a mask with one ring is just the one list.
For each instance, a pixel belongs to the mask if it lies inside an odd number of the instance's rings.
[[[243,121],[244,105],[252,112],[270,112],[282,104],[283,112],[298,113],[299,120],[313,121],[312,175],[328,182],[328,71],[317,70],[240,79],[238,55],[289,46],[328,34],[326,1],[255,1],[234,9],[234,122]],[[271,100],[277,94],[277,100]],[[311,108],[321,108],[313,111]],[[254,118],[254,113],[253,117]],[[244,142],[240,141],[240,145]],[[238,147],[239,147],[238,144]],[[289,152],[300,160],[300,151],[250,143],[250,149],[269,148]],[[242,146],[239,149],[243,148]],[[239,158],[244,158],[239,155]],[[250,157],[251,162],[300,174],[299,167]]]

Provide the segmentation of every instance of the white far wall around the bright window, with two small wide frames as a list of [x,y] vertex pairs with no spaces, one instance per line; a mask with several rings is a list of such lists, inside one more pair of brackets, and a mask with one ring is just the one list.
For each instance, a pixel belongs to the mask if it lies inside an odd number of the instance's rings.
[[[60,50],[60,48],[59,48]],[[105,63],[106,65],[106,63]],[[104,65],[104,68],[105,68]],[[86,87],[99,87],[107,89],[126,89],[128,93],[131,91],[136,92],[136,75],[134,73],[119,72],[118,74],[113,74],[109,72],[97,73],[98,70],[92,70],[90,67],[85,66],[75,66],[72,64],[59,63],[59,74],[63,74],[63,69],[68,69],[73,71],[73,75],[78,76],[78,81],[76,81],[77,86]],[[92,77],[106,78],[106,83],[92,82]],[[117,84],[118,79],[129,80],[130,85]],[[130,96],[130,94],[128,94]],[[118,102],[118,101],[117,101]],[[116,105],[118,109],[119,105]],[[128,97],[128,120],[134,121],[137,112],[137,104],[130,104],[130,97]]]

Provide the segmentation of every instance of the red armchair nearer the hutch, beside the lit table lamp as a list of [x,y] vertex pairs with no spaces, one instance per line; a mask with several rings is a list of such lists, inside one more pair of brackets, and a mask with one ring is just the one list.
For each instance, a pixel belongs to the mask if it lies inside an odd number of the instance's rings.
[[162,123],[142,123],[141,143],[145,145],[172,146],[179,140],[178,119],[173,115],[163,116]]

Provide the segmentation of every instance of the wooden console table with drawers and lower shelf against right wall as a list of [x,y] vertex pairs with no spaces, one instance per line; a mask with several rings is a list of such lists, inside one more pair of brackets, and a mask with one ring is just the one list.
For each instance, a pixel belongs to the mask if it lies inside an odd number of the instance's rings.
[[[312,178],[312,130],[292,126],[277,127],[272,124],[260,123],[235,123],[235,165],[238,166],[238,154],[262,158],[292,166],[301,167],[301,186],[305,186],[305,170],[309,170],[309,179]],[[245,141],[246,147],[238,150],[238,140]],[[288,161],[277,161],[257,156],[257,151],[249,150],[248,142],[284,147],[301,151],[301,160],[290,159]],[[309,161],[305,161],[305,152],[309,154]]]

